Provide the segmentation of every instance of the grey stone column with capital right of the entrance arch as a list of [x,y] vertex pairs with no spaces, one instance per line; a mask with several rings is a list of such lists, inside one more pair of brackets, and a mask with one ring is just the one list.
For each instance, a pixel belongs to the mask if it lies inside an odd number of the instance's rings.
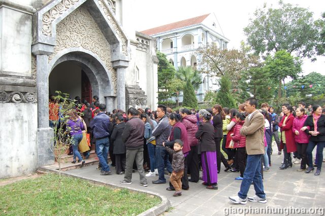
[[125,68],[128,67],[127,60],[112,61],[113,68],[117,73],[117,109],[125,110]]

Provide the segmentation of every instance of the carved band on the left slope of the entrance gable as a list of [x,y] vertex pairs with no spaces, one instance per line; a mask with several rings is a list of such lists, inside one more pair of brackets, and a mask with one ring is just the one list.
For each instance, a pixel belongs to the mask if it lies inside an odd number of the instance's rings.
[[64,11],[67,11],[74,4],[79,2],[79,0],[62,0],[62,2],[58,3],[55,7],[51,8],[48,12],[43,14],[42,17],[42,33],[46,36],[52,36],[52,22],[58,16],[60,16]]

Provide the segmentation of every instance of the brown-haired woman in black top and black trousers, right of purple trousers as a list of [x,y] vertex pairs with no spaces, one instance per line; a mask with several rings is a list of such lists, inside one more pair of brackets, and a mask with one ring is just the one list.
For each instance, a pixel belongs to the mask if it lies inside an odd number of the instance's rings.
[[231,166],[228,164],[228,161],[224,158],[223,154],[221,153],[220,149],[220,142],[223,137],[222,134],[222,118],[225,117],[225,114],[222,110],[221,105],[216,104],[212,107],[212,112],[214,114],[212,118],[212,125],[214,127],[214,142],[217,150],[217,167],[218,173],[220,172],[221,168],[221,161],[226,168],[224,171],[228,171],[231,169]]

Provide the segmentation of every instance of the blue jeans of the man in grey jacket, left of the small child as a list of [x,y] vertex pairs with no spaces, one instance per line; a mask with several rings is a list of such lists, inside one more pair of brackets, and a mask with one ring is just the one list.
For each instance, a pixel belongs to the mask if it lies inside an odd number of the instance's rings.
[[173,172],[171,163],[168,160],[169,153],[165,147],[156,147],[156,163],[158,168],[159,180],[166,182],[165,164],[168,172]]

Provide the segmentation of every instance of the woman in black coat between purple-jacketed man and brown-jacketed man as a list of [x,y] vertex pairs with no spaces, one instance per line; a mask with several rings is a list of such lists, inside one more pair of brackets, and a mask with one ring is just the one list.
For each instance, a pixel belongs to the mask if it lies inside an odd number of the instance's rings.
[[116,121],[117,125],[114,127],[111,139],[114,142],[113,153],[115,155],[116,174],[122,175],[126,165],[126,148],[125,143],[122,141],[122,133],[126,123],[121,115],[117,116]]

